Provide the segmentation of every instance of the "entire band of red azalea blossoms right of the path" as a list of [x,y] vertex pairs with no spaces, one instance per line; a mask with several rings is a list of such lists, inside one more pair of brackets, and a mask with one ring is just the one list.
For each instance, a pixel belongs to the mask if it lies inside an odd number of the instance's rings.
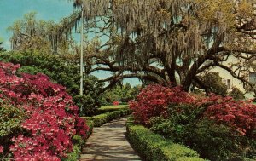
[[[232,97],[209,95],[195,98],[181,87],[164,87],[160,84],[148,85],[130,102],[130,108],[137,123],[147,125],[154,117],[168,118],[168,105],[193,105],[203,118],[210,118],[218,124],[225,124],[240,135],[255,138],[256,106],[247,101],[236,101]],[[191,106],[191,110],[195,111]],[[204,110],[201,111],[201,106]],[[198,108],[197,108],[198,107]],[[182,112],[183,109],[177,109]],[[177,111],[178,112],[178,111]]]

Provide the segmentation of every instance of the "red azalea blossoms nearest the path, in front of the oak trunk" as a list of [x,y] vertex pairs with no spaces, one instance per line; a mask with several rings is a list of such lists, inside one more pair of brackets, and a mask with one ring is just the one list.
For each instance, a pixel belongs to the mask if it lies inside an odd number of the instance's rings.
[[135,120],[146,125],[150,118],[166,118],[170,103],[191,103],[194,100],[193,96],[179,86],[164,87],[160,84],[151,84],[141,90],[136,101],[130,101],[130,108]]

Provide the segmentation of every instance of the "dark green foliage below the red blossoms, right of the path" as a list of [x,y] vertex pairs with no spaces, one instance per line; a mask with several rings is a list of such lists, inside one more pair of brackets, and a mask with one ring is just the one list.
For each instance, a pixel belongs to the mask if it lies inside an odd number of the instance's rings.
[[184,144],[200,153],[202,158],[214,161],[253,158],[255,141],[224,124],[217,124],[202,113],[206,106],[170,105],[168,118],[150,120],[150,129]]

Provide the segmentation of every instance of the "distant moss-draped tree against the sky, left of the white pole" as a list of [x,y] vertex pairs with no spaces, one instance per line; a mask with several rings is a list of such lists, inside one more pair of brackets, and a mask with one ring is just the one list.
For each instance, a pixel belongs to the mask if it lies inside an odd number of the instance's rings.
[[[69,31],[61,28],[65,20],[38,20],[36,12],[24,14],[9,26],[12,32],[12,49],[16,51],[40,51],[41,53],[67,54],[73,48]],[[61,31],[61,32],[60,32]]]

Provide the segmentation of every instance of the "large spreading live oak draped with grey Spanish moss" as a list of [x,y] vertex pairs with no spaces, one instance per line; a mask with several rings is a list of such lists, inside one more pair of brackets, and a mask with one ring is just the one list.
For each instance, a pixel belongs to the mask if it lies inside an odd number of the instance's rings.
[[[113,72],[109,86],[137,77],[201,86],[218,66],[253,89],[245,75],[256,53],[254,0],[74,0],[87,32],[108,41],[87,44],[87,71]],[[80,20],[81,13],[76,20]],[[72,20],[69,20],[72,21]],[[72,21],[74,22],[74,21]],[[224,63],[230,60],[230,63]],[[97,65],[97,66],[95,66]]]

